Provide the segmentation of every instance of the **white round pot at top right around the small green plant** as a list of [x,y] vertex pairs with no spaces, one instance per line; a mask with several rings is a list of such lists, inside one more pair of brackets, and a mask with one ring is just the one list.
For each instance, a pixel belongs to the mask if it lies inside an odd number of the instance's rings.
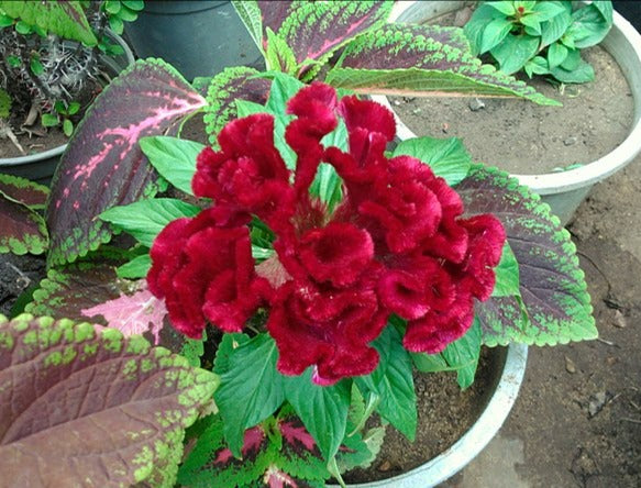
[[[398,22],[426,22],[455,11],[463,1],[407,1],[395,5],[391,19]],[[584,166],[563,173],[518,175],[522,185],[542,196],[563,224],[567,223],[590,188],[615,171],[623,168],[641,151],[641,35],[619,13],[614,13],[614,25],[600,44],[620,66],[633,97],[633,122],[625,141],[610,153]],[[598,73],[597,73],[598,76]],[[375,99],[387,107],[385,97]],[[391,107],[390,107],[391,108]],[[401,140],[415,134],[398,118],[398,136]],[[474,155],[473,155],[474,156]]]

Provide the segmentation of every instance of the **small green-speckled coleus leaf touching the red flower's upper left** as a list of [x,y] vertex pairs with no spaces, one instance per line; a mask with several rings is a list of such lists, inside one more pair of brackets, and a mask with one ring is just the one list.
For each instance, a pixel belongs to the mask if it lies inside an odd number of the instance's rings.
[[247,100],[259,104],[267,102],[272,81],[257,78],[256,75],[258,71],[254,68],[236,66],[225,68],[211,80],[203,120],[209,142],[213,146],[218,145],[218,133],[236,117],[235,100]]

